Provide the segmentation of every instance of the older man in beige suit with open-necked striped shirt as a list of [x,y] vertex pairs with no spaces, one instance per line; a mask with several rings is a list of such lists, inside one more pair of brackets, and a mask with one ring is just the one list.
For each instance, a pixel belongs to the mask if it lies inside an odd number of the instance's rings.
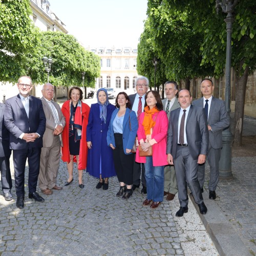
[[51,83],[42,87],[42,107],[46,115],[46,131],[42,138],[38,186],[45,195],[52,195],[52,189],[61,190],[56,178],[59,169],[61,133],[66,124],[58,103],[52,100],[54,88]]

